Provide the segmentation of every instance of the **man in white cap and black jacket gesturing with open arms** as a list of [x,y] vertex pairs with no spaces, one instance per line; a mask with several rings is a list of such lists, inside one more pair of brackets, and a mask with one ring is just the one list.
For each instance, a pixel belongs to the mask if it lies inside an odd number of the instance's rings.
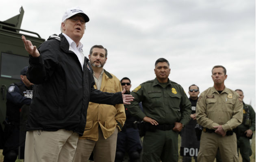
[[95,90],[89,60],[80,39],[89,17],[78,7],[67,9],[61,34],[37,49],[25,36],[27,77],[37,88],[26,125],[26,162],[72,162],[78,136],[85,129],[89,101],[130,104],[131,95]]

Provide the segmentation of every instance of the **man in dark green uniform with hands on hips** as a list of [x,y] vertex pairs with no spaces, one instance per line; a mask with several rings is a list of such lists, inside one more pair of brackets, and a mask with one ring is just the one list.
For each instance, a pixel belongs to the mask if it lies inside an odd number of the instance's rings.
[[143,162],[177,162],[178,132],[190,120],[191,102],[183,88],[168,79],[170,68],[166,59],[156,60],[154,71],[154,80],[142,83],[131,92],[135,99],[128,110],[145,123]]

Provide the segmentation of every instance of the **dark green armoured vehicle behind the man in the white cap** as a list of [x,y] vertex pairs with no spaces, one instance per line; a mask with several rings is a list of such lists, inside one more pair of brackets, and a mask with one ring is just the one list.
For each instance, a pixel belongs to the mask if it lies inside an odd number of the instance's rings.
[[23,15],[21,7],[19,15],[0,21],[0,137],[4,130],[8,87],[11,83],[20,81],[20,71],[28,66],[28,52],[21,36],[26,36],[37,47],[45,41],[39,34],[20,28]]

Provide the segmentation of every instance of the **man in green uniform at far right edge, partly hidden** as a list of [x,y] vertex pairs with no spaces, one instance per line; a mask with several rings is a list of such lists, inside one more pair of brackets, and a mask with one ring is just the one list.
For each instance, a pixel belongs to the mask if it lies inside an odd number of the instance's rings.
[[[243,101],[243,91],[235,90],[241,100]],[[255,112],[251,105],[243,102],[243,123],[238,126],[239,139],[237,140],[237,152],[240,148],[240,153],[243,158],[243,162],[249,162],[252,155],[252,149],[249,139],[252,139],[253,131],[255,130]]]

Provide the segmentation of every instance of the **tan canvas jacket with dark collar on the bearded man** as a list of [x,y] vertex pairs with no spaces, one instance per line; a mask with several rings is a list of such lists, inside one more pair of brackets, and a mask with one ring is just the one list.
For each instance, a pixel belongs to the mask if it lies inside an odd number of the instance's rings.
[[[96,85],[94,85],[97,89]],[[122,91],[121,83],[115,75],[108,73],[104,70],[102,76],[102,82],[100,90],[102,92],[120,92]],[[116,127],[120,131],[124,126],[126,120],[124,104],[107,105],[107,104],[96,104],[89,102],[87,109],[87,122],[85,126],[85,131],[79,139],[90,139],[93,141],[98,141],[98,127],[103,132],[104,138],[107,139]]]

